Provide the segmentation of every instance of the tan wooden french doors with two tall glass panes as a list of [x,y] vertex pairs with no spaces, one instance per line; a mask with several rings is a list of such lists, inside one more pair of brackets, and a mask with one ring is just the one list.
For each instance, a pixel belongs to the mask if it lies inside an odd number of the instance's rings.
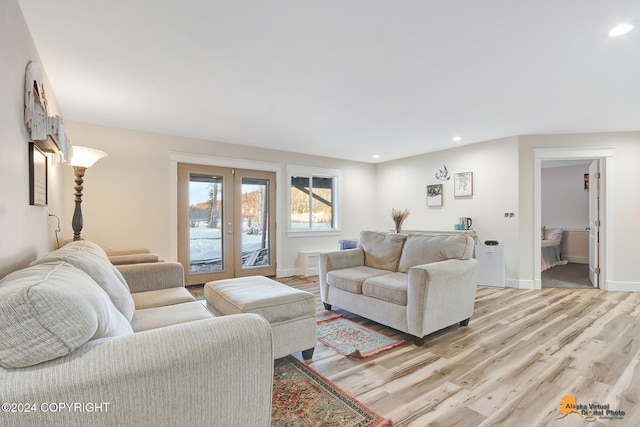
[[187,285],[275,275],[275,173],[178,164],[178,260]]

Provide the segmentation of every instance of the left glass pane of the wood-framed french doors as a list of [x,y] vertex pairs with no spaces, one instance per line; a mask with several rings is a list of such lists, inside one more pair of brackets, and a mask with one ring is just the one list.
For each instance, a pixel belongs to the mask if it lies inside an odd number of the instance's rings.
[[222,177],[191,174],[189,178],[189,273],[221,271]]

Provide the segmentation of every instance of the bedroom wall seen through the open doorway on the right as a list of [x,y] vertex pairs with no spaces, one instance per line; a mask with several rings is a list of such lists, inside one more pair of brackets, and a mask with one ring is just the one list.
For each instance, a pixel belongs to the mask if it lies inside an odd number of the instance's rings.
[[541,171],[542,224],[548,228],[580,228],[589,225],[589,191],[584,174],[589,165],[545,167]]

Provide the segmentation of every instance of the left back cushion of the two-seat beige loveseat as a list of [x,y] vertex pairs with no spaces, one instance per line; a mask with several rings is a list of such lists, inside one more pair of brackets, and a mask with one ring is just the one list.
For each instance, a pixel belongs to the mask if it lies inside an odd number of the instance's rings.
[[364,265],[396,271],[406,236],[376,231],[360,232],[358,247],[364,250]]

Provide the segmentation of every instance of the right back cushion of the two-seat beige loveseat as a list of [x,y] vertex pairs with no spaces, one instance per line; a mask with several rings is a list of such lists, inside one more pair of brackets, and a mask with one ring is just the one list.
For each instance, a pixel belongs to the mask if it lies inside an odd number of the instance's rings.
[[470,259],[473,239],[466,234],[410,234],[407,236],[398,271],[406,273],[411,267],[447,259]]

